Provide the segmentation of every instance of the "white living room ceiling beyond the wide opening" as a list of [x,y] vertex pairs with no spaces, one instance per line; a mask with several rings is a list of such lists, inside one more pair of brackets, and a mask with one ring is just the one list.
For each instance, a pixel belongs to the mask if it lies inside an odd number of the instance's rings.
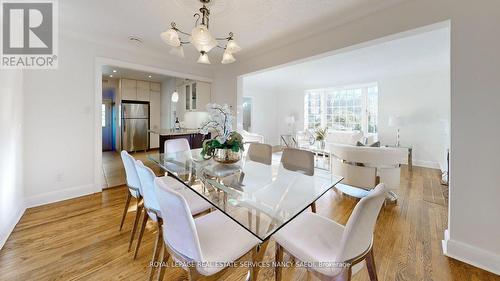
[[314,89],[450,68],[450,31],[438,29],[244,77],[249,90]]

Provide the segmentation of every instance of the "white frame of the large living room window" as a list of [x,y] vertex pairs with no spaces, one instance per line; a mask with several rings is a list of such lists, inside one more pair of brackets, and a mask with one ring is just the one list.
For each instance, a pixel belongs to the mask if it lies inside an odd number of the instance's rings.
[[[369,90],[370,88],[376,88],[376,123],[375,123],[375,132],[369,132],[370,123],[369,123]],[[309,104],[308,99],[310,94],[319,94],[320,95],[320,105],[319,105],[319,115],[320,115],[320,126],[321,128],[325,128],[328,126],[327,122],[327,114],[328,114],[328,103],[327,96],[329,94],[333,94],[335,92],[340,91],[356,91],[361,89],[361,131],[365,134],[377,134],[378,133],[378,116],[379,116],[379,105],[378,105],[378,96],[379,96],[379,87],[377,82],[372,83],[364,83],[364,84],[351,84],[351,85],[343,85],[343,86],[335,86],[335,87],[326,87],[326,88],[316,88],[304,91],[304,130],[311,129],[309,127]],[[332,129],[332,128],[329,128]],[[355,131],[355,130],[346,130],[346,131]]]

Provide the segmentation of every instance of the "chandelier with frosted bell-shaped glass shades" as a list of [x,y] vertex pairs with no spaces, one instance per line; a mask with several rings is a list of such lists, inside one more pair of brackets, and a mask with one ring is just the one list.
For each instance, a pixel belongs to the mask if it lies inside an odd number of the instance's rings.
[[[192,44],[198,52],[200,52],[200,57],[198,58],[198,63],[210,64],[208,58],[208,52],[213,48],[220,48],[224,50],[222,54],[222,64],[233,63],[236,61],[233,54],[241,51],[240,46],[234,40],[234,34],[229,32],[228,37],[213,37],[208,31],[209,28],[209,16],[210,10],[206,7],[206,4],[210,3],[210,0],[200,0],[203,7],[200,8],[200,13],[194,14],[193,17],[196,18],[195,26],[191,30],[191,34],[181,31],[177,28],[175,22],[172,22],[171,27],[160,34],[161,39],[172,46],[170,50],[171,54],[177,55],[179,57],[184,57],[184,48],[186,44]],[[201,20],[201,23],[200,23]],[[181,35],[188,37],[188,39],[182,39]],[[225,42],[225,46],[219,45],[219,41]]]

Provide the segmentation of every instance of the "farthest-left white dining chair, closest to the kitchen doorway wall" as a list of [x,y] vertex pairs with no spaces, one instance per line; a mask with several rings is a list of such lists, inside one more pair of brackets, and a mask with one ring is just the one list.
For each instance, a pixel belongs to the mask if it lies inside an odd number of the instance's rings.
[[128,244],[128,251],[132,247],[132,243],[134,241],[135,232],[137,230],[137,224],[139,222],[139,217],[143,208],[143,200],[142,200],[142,192],[141,192],[141,182],[139,180],[139,176],[137,175],[137,171],[135,169],[135,159],[130,155],[127,151],[123,150],[121,153],[121,158],[123,162],[123,167],[125,168],[125,175],[127,178],[127,201],[125,202],[125,208],[123,209],[122,220],[120,223],[120,231],[123,227],[123,222],[125,221],[125,217],[128,213],[128,208],[130,205],[130,200],[132,197],[136,199],[136,213],[134,226],[132,227],[132,233],[130,235],[130,241]]

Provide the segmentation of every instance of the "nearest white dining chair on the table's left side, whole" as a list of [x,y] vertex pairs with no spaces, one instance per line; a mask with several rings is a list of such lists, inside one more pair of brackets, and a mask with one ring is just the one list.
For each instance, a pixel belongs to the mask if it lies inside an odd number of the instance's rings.
[[[175,262],[184,265],[189,280],[202,277],[220,280],[224,268],[216,263],[241,260],[260,242],[220,211],[193,218],[185,198],[160,179],[155,180],[155,192],[162,217],[168,222],[168,227],[163,228],[166,251],[162,264],[167,263],[171,256]],[[254,254],[251,259],[253,261]],[[163,280],[164,274],[165,267],[162,266],[158,280]],[[253,268],[249,275],[255,280]]]

